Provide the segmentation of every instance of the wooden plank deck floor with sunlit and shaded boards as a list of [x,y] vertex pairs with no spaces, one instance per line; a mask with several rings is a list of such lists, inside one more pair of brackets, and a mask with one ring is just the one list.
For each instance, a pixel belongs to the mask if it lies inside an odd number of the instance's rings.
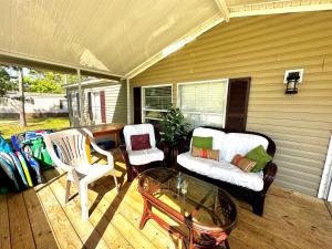
[[[0,196],[0,249],[177,248],[178,241],[152,220],[138,229],[143,201],[137,183],[126,181],[125,165],[118,159],[116,169],[121,194],[116,195],[111,176],[91,187],[86,222],[81,220],[77,195],[64,204],[65,175],[56,169],[44,173],[48,183],[42,186]],[[263,217],[237,203],[232,249],[332,248],[332,220],[322,200],[273,186]]]

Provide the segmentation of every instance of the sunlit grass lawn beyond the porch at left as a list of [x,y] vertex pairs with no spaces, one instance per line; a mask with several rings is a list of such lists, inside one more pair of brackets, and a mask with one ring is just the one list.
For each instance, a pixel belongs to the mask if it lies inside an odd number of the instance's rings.
[[8,139],[12,134],[18,134],[27,131],[35,129],[60,129],[70,126],[68,117],[35,117],[27,120],[27,127],[19,125],[19,120],[1,120],[0,121],[0,135]]

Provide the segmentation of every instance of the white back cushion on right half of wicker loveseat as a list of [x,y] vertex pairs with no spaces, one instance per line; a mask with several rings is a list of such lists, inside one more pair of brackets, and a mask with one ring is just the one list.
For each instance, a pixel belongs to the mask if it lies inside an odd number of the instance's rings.
[[268,148],[269,141],[262,136],[243,133],[228,133],[225,135],[221,148],[221,159],[230,163],[236,154],[245,156],[252,148],[262,145]]

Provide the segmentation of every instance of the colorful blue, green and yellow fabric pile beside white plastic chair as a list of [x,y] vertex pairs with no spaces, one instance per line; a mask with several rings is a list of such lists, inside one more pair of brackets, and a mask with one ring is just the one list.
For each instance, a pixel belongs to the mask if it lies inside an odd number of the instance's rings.
[[0,136],[0,194],[23,190],[42,183],[41,170],[52,167],[42,135],[52,131],[11,136],[12,147]]

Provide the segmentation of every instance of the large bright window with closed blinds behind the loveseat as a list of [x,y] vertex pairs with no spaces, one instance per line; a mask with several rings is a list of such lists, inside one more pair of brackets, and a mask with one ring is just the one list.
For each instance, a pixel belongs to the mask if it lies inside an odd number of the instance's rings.
[[193,126],[225,126],[228,80],[178,84],[178,106]]

